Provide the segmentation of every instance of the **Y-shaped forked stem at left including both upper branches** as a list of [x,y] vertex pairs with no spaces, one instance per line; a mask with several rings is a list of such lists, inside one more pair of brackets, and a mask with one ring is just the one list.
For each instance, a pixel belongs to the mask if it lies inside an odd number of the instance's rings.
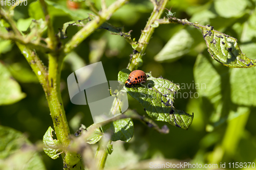
[[[45,5],[44,1],[40,0],[40,2],[42,6]],[[46,8],[44,8],[44,11],[45,9]],[[45,14],[46,18],[49,18],[48,13],[46,12]],[[0,15],[3,16],[3,18],[10,24],[12,31],[9,33],[8,36],[11,35],[13,37],[16,37],[13,40],[16,41],[18,48],[25,56],[31,68],[35,72],[35,75],[37,76],[40,84],[42,85],[48,101],[57,139],[61,142],[63,148],[67,148],[70,143],[70,130],[60,93],[61,65],[65,54],[61,51],[61,49],[57,48],[57,44],[59,42],[53,32],[50,18],[48,19],[48,29],[50,28],[50,30],[48,30],[49,38],[47,39],[50,44],[49,46],[51,48],[51,53],[48,54],[49,70],[47,71],[46,67],[41,62],[35,51],[32,50],[32,46],[27,45],[22,40],[22,34],[18,31],[15,22],[11,17],[9,17],[9,14],[4,10],[0,9]],[[61,155],[63,163],[67,165],[67,168],[65,169],[80,169],[83,167],[82,162],[80,161],[79,154],[65,151]],[[69,155],[70,159],[67,159],[69,161],[66,161],[65,159],[67,155]]]

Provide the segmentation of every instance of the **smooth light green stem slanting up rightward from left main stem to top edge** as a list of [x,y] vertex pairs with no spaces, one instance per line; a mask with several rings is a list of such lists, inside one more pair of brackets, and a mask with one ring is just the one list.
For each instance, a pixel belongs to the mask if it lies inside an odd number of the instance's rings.
[[129,0],[118,0],[109,6],[108,9],[100,12],[99,16],[96,16],[93,20],[88,22],[86,26],[84,26],[72,37],[72,39],[65,45],[64,52],[70,53],[77,45],[79,45],[84,39],[99,28],[103,22],[108,20],[116,10],[118,10],[128,1]]

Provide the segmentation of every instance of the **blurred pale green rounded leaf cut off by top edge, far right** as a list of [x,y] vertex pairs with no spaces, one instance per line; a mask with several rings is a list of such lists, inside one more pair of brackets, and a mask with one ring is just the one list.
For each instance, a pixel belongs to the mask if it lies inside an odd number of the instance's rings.
[[216,12],[224,17],[239,17],[245,13],[248,4],[247,0],[216,0],[214,7]]

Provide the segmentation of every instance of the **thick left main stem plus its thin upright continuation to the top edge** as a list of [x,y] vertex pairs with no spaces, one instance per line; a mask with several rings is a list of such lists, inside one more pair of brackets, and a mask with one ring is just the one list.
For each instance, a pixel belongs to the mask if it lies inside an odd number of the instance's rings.
[[[60,93],[61,65],[63,63],[63,58],[65,57],[65,54],[63,53],[63,51],[61,51],[61,48],[58,47],[58,44],[60,44],[60,42],[54,33],[51,18],[49,16],[45,1],[40,0],[40,4],[42,10],[44,11],[48,25],[47,42],[49,47],[53,50],[52,53],[48,54],[49,75],[48,91],[46,92],[46,98],[50,108],[57,139],[61,142],[63,148],[67,148],[70,144],[70,129],[68,126]],[[66,153],[61,154],[61,156],[63,164],[66,165],[65,169],[81,169],[83,167],[79,154],[66,151]]]

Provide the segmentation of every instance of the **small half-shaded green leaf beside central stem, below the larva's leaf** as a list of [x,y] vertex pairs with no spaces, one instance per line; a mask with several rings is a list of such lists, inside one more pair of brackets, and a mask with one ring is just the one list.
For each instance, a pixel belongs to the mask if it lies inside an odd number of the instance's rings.
[[133,120],[131,118],[115,120],[103,125],[101,129],[103,133],[110,133],[112,141],[122,140],[129,142],[134,134]]

